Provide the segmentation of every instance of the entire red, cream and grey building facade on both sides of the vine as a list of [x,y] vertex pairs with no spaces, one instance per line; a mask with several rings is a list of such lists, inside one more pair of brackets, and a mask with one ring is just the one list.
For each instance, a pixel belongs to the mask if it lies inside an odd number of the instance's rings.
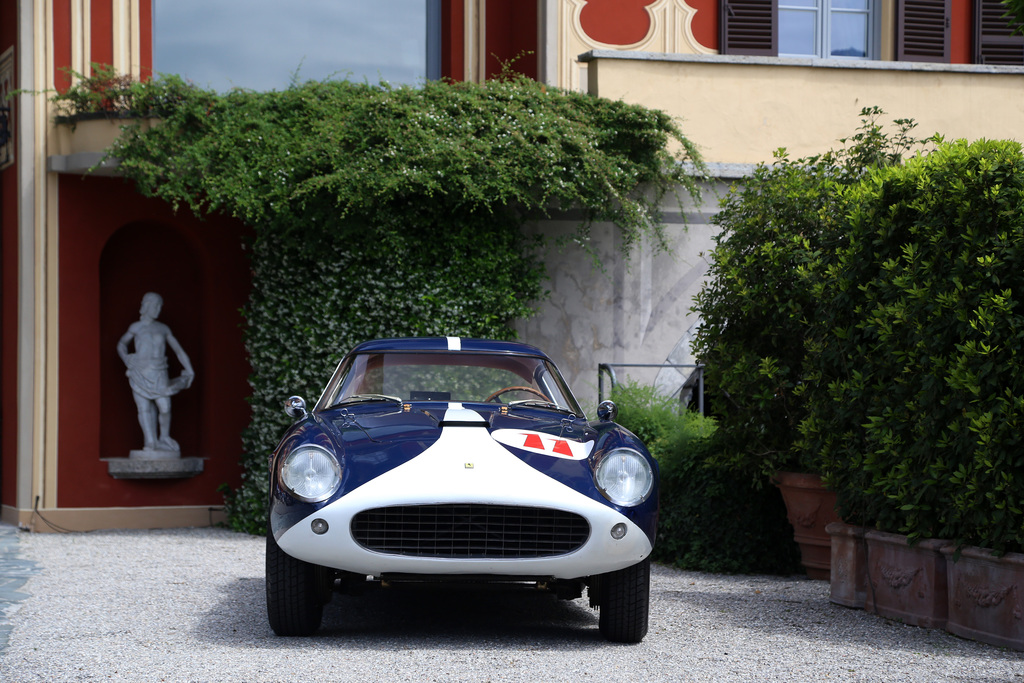
[[[1024,41],[992,0],[428,0],[426,11],[428,73],[478,81],[508,68],[665,110],[715,175],[703,204],[665,207],[672,253],[644,245],[625,260],[614,229],[597,225],[604,272],[571,248],[551,255],[551,297],[517,329],[591,405],[598,364],[692,362],[689,308],[717,196],[775,148],[799,157],[836,146],[864,106],[914,119],[922,136],[1015,138],[1024,124]],[[241,476],[244,226],[174,213],[116,168],[87,172],[117,125],[55,125],[45,95],[91,62],[146,78],[153,22],[150,0],[0,0],[0,94],[18,91],[0,110],[6,522],[209,524],[218,486]],[[97,127],[98,136],[86,130]],[[529,229],[578,223],[566,213]],[[173,399],[181,455],[202,463],[187,476],[123,476],[141,432],[117,345],[150,291],[163,296],[160,319],[196,371]],[[685,379],[666,369],[636,377]]]

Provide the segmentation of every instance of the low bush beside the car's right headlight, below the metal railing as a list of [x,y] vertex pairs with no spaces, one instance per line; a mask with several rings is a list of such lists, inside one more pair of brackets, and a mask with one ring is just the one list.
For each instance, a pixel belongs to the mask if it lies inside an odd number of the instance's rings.
[[683,569],[725,573],[799,571],[800,553],[774,486],[756,487],[717,458],[716,421],[680,410],[649,386],[616,385],[617,421],[660,469],[653,558]]

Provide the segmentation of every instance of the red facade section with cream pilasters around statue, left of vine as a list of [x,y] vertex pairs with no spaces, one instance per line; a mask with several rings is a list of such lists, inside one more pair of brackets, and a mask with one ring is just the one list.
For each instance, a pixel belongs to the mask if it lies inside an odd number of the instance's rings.
[[[210,524],[218,485],[239,482],[244,228],[87,172],[118,122],[56,126],[46,95],[91,62],[144,78],[152,16],[139,0],[0,2],[0,87],[22,91],[5,102],[0,170],[0,516],[38,530]],[[196,370],[170,432],[188,471],[120,467],[142,432],[117,346],[150,291]]]

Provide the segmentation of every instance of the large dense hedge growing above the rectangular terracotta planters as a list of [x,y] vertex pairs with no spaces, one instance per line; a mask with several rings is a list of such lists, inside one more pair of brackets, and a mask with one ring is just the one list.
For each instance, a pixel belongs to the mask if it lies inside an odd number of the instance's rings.
[[803,425],[841,514],[1024,548],[1024,155],[958,141],[847,196]]

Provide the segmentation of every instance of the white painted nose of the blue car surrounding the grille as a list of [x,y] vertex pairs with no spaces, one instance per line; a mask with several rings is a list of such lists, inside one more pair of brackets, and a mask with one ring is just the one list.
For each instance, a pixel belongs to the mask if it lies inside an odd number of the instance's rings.
[[[397,505],[479,503],[554,508],[584,517],[590,537],[565,555],[530,558],[447,558],[392,555],[368,550],[351,535],[352,518],[373,508]],[[329,525],[311,529],[313,519]],[[626,535],[613,539],[611,528]],[[354,573],[494,574],[580,579],[636,564],[651,552],[643,529],[614,508],[538,471],[475,426],[445,427],[419,457],[385,472],[287,529],[271,525],[281,548],[298,559]]]

